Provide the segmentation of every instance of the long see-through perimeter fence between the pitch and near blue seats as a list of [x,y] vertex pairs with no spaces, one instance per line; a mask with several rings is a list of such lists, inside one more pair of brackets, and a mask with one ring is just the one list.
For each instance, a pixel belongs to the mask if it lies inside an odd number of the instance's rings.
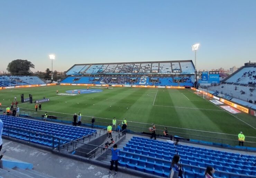
[[[31,118],[42,119],[42,115],[45,111],[37,111],[37,113],[33,112],[32,109],[24,109],[20,108],[20,115],[27,116]],[[56,116],[57,119],[47,119],[49,121],[54,122],[61,122],[61,123],[71,123],[73,119],[71,118],[73,114],[67,113],[58,113],[58,112],[51,112],[47,111],[48,115]],[[98,128],[106,128],[109,124],[112,123],[112,119],[108,118],[98,118],[94,117],[95,122],[94,126]],[[91,116],[82,115],[82,123],[85,126],[91,126]],[[117,120],[117,125],[120,123],[121,127],[122,120]],[[178,128],[178,127],[170,127],[165,125],[156,125],[157,134],[163,135],[164,127],[167,128],[169,135],[176,135],[179,137],[183,137],[185,139],[195,139],[195,140],[202,140],[208,142],[215,142],[220,144],[229,144],[230,146],[238,145],[238,136],[237,134],[226,134],[226,133],[218,133],[214,131],[202,131],[202,130],[195,130],[195,129],[185,129],[185,128]],[[127,130],[137,133],[149,133],[149,127],[152,127],[152,124],[148,123],[141,123],[141,122],[134,122],[134,121],[127,121]],[[216,144],[217,145],[217,144]],[[247,136],[246,135],[246,142],[245,146],[248,147],[256,147],[256,137]]]

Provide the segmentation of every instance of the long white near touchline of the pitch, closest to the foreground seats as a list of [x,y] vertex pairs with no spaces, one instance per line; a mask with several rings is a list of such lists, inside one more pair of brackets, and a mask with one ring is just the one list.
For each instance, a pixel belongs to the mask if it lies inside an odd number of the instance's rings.
[[[21,109],[34,110],[34,109],[27,109],[27,108],[21,108]],[[43,111],[43,112],[58,113],[58,114],[74,115],[74,114],[68,114],[68,113],[63,113],[63,112],[44,111],[44,110],[41,110],[41,111]],[[88,115],[82,115],[82,116],[85,116],[85,117],[91,117],[91,118],[92,118],[92,117],[94,117],[94,116],[88,116]],[[112,119],[109,119],[109,118],[100,118],[100,117],[96,117],[96,118],[112,120]],[[122,121],[122,120],[119,120],[119,121]],[[145,123],[142,123],[142,122],[134,122],[134,121],[128,121],[128,122],[139,123],[139,124],[145,124]],[[161,126],[161,127],[165,127],[165,126],[166,126],[166,125],[158,125],[158,124],[156,124],[156,125],[157,125],[157,126]],[[170,126],[167,126],[167,127],[170,127]],[[183,130],[191,130],[191,131],[199,131],[199,132],[208,132],[208,133],[217,133],[217,134],[223,134],[223,135],[233,135],[233,136],[237,136],[237,135],[235,135],[235,134],[229,134],[229,133],[211,132],[211,131],[196,130],[196,129],[186,129],[186,128],[181,128],[181,127],[170,127],[170,128],[183,129]],[[247,136],[247,137],[250,137],[250,138],[256,138],[256,137],[252,137],[252,136]]]

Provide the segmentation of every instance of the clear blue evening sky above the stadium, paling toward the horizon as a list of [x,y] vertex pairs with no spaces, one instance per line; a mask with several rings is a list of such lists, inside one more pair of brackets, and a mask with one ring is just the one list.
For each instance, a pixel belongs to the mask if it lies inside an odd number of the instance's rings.
[[256,0],[5,0],[0,70],[27,59],[33,71],[73,64],[194,59],[211,69],[256,62]]

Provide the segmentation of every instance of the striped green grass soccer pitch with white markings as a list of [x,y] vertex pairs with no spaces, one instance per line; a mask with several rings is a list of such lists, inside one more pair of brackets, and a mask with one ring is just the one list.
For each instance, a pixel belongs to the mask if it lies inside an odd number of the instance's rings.
[[[177,132],[177,135],[184,137],[189,136],[184,134],[195,134],[198,135],[196,138],[210,136],[237,140],[235,135],[240,131],[246,136],[256,135],[256,119],[253,116],[245,113],[231,114],[196,95],[191,89],[90,88],[90,90],[100,89],[102,92],[75,96],[56,95],[56,90],[59,93],[66,93],[68,90],[86,90],[86,88],[87,86],[63,85],[12,88],[0,90],[0,101],[4,106],[10,105],[14,96],[17,96],[21,111],[35,113],[35,104],[21,103],[20,94],[23,93],[24,98],[32,94],[33,101],[43,99],[45,96],[50,98],[50,101],[42,103],[43,111],[38,111],[40,114],[47,111],[49,115],[71,120],[74,113],[81,112],[83,123],[90,123],[90,118],[86,116],[108,119],[116,117],[117,120],[126,118],[128,127],[131,125],[138,127],[137,131],[139,128],[142,128],[141,131],[146,131],[150,127],[140,123],[155,123],[158,125],[158,130],[164,130],[163,125],[170,126],[172,128],[168,128],[169,131]],[[99,120],[103,122],[103,119],[96,119]],[[108,121],[111,123],[111,120]],[[140,123],[129,123],[129,121]]]

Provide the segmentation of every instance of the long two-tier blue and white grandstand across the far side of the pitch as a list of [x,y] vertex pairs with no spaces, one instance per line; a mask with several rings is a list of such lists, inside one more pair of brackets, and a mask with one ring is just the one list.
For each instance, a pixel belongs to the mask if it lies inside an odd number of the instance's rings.
[[[194,74],[191,60],[76,64],[68,69],[67,78],[61,83],[193,86]],[[150,82],[152,78],[154,82]]]

